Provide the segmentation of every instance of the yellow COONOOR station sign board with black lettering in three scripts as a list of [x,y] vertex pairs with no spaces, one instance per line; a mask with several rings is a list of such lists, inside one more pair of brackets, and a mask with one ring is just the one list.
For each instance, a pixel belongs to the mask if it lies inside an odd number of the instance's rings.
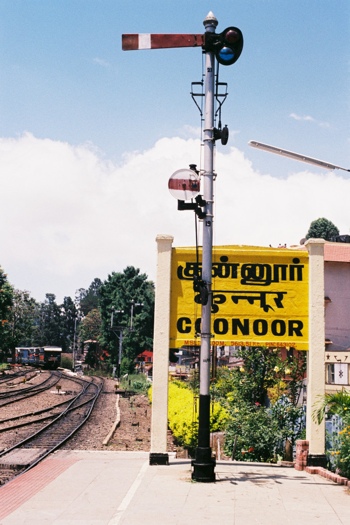
[[[201,263],[196,260],[195,248],[172,249],[171,348],[200,345],[200,294],[193,276],[200,278]],[[212,268],[211,344],[308,349],[307,251],[216,246]]]

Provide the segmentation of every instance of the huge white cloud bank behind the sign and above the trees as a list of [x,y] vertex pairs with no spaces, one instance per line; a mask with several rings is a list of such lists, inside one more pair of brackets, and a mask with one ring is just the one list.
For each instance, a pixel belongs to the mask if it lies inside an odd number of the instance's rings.
[[[216,152],[216,244],[298,244],[325,216],[348,232],[349,179],[303,171],[261,175],[236,148]],[[95,277],[134,265],[155,277],[155,237],[195,243],[193,212],[178,212],[169,176],[200,166],[200,141],[164,138],[122,165],[91,145],[27,133],[0,139],[0,265],[10,282],[38,299],[58,300]]]

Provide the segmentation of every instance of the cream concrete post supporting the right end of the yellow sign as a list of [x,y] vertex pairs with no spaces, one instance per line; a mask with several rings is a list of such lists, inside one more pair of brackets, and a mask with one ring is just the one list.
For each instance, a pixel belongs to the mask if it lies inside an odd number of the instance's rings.
[[307,465],[326,466],[325,422],[312,419],[317,396],[324,395],[324,239],[308,239],[309,251],[309,352],[307,352],[306,440],[309,441]]

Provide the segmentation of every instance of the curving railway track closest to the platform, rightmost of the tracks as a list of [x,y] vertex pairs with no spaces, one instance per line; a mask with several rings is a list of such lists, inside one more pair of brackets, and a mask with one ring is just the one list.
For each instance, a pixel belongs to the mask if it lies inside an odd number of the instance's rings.
[[93,377],[91,381],[81,378],[75,381],[83,385],[82,391],[69,400],[68,406],[58,415],[51,415],[54,417],[53,421],[0,453],[0,468],[24,469],[23,472],[29,470],[66,443],[87,421],[104,380],[101,377]]

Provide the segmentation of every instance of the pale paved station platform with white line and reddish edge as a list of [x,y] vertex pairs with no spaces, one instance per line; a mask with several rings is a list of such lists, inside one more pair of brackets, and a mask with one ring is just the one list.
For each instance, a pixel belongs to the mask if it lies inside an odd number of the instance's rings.
[[350,525],[349,490],[318,475],[218,461],[215,483],[190,460],[59,450],[0,488],[0,525]]

